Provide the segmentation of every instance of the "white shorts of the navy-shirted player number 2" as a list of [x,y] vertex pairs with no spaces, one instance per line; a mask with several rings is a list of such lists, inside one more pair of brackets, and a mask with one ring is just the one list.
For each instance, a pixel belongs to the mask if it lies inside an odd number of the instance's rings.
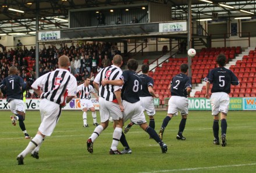
[[189,114],[189,99],[181,96],[172,96],[168,102],[168,114],[177,116],[178,111],[180,114]]

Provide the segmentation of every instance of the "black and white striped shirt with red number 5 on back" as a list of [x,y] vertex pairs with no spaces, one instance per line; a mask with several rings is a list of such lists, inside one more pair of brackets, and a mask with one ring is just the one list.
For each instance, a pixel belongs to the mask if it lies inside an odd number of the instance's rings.
[[65,105],[66,96],[76,96],[76,78],[65,69],[56,69],[38,78],[32,85],[34,89],[42,89],[41,99]]

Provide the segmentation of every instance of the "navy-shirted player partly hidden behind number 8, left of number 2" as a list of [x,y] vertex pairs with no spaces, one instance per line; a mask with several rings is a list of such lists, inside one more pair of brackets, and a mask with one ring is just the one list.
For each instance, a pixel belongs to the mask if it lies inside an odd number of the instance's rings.
[[[155,105],[154,98],[159,98],[159,95],[154,92],[154,80],[148,76],[150,67],[148,64],[144,64],[141,66],[141,72],[143,74],[140,75],[142,80],[142,89],[140,91],[140,102],[143,108],[143,111],[147,111],[148,117],[150,118],[150,127],[155,129]],[[151,138],[151,137],[150,137]]]

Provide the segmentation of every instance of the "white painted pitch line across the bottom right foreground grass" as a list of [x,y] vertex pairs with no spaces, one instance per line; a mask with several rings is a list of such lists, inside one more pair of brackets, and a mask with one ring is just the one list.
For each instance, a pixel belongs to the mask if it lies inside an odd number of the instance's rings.
[[221,165],[216,167],[198,167],[198,168],[184,168],[184,169],[176,169],[176,170],[159,170],[159,171],[152,171],[152,172],[140,172],[140,173],[153,173],[153,172],[175,172],[175,171],[194,171],[194,170],[209,170],[209,169],[218,169],[218,168],[227,168],[227,167],[244,167],[244,166],[251,166],[256,165],[256,163],[250,164],[237,164],[237,165]]

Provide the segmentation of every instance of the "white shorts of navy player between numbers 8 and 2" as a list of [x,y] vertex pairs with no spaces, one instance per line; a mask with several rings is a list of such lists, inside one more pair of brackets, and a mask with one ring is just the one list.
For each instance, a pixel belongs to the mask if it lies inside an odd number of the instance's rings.
[[141,108],[144,111],[147,111],[148,116],[155,115],[155,106],[154,106],[154,98],[150,97],[140,97]]

